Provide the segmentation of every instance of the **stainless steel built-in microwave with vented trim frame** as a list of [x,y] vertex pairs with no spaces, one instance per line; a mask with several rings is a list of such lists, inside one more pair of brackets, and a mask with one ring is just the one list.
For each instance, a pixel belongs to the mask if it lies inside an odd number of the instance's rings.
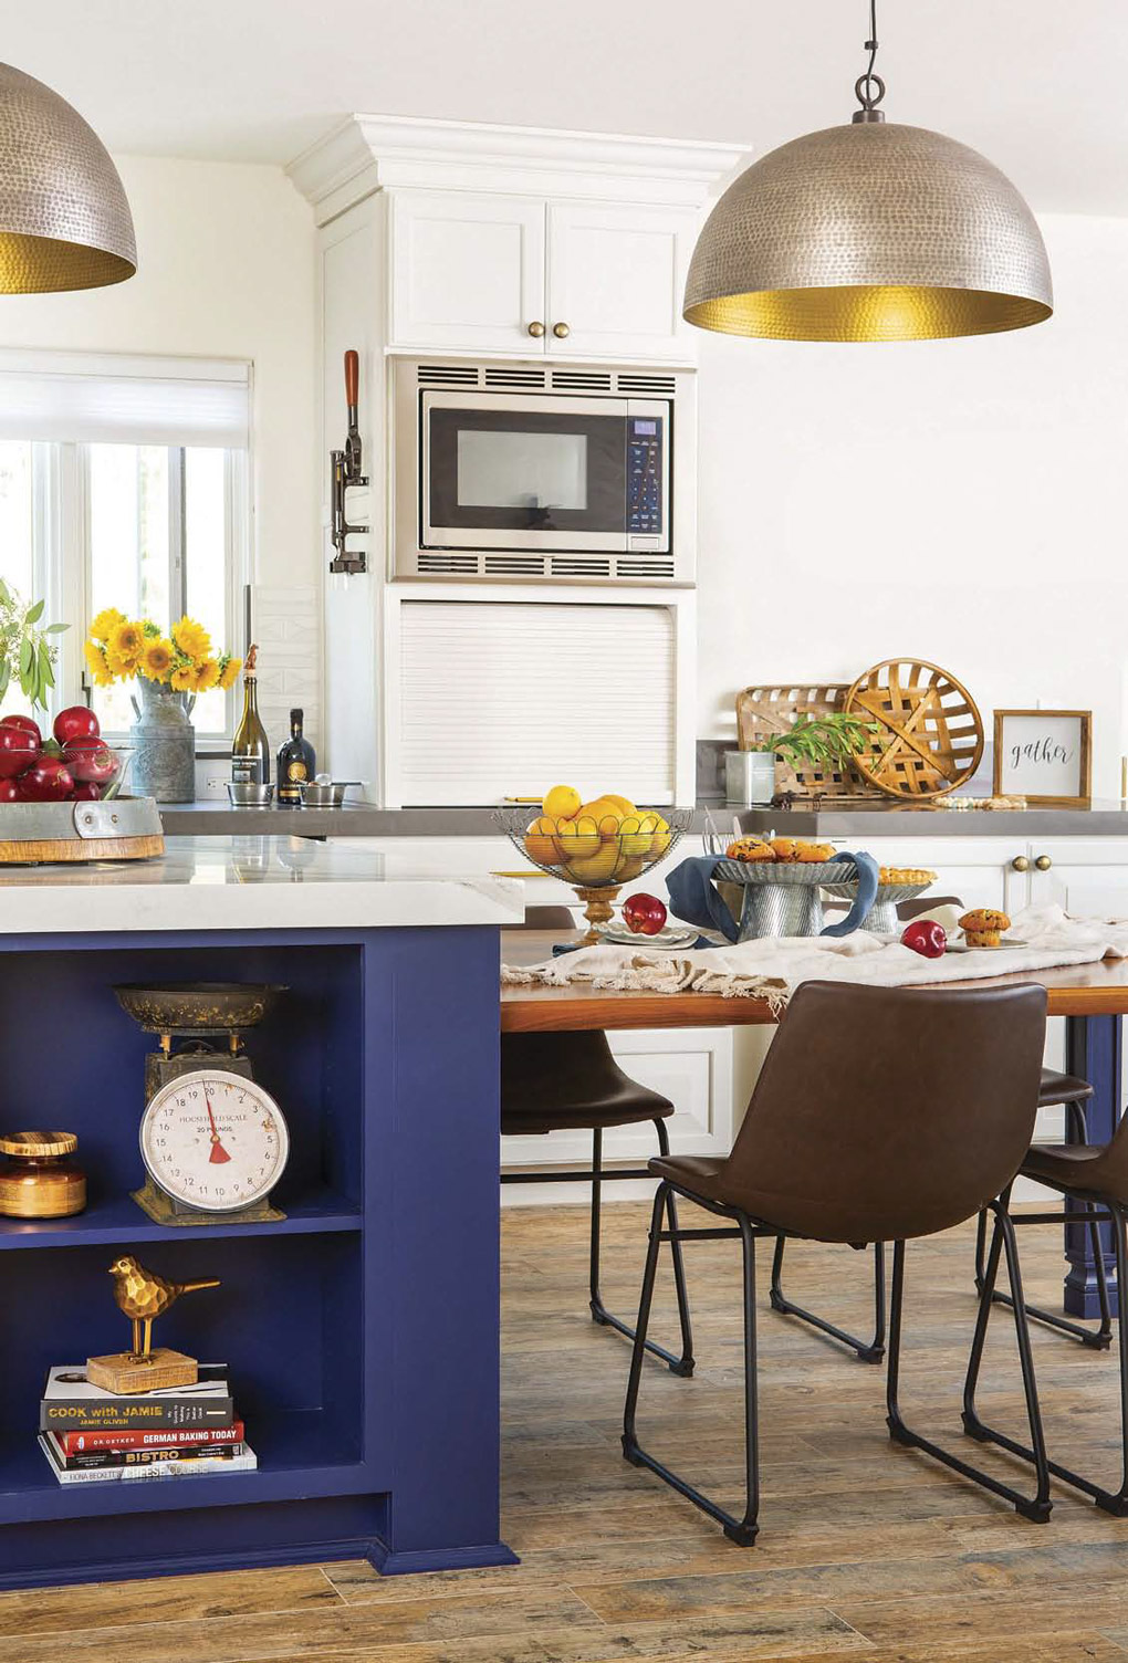
[[692,371],[396,363],[396,577],[692,584]]

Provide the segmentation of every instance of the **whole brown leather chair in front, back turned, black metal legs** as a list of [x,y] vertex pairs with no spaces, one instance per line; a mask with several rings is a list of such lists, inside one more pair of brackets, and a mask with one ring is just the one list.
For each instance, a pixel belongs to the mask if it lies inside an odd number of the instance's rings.
[[[1007,1192],[1030,1146],[1045,1044],[1046,994],[1013,988],[872,988],[804,983],[794,994],[727,1159],[651,1161],[654,1197],[639,1322],[624,1407],[622,1452],[750,1545],[759,1513],[755,1241],[893,1242],[887,1422],[890,1435],[973,1478],[1030,1518],[1050,1513],[1050,1480]],[[922,1068],[922,1058],[935,1066]],[[945,1066],[950,1061],[952,1068]],[[675,1192],[729,1229],[662,1229]],[[998,1199],[995,1199],[998,1197]],[[987,1329],[1000,1244],[1007,1254],[1022,1379],[1036,1463],[1033,1497],[910,1430],[898,1405],[905,1241],[948,1229],[980,1207],[997,1231],[980,1299]],[[744,1247],[745,1477],[742,1518],[647,1453],[636,1412],[654,1272],[664,1241],[735,1236]]]

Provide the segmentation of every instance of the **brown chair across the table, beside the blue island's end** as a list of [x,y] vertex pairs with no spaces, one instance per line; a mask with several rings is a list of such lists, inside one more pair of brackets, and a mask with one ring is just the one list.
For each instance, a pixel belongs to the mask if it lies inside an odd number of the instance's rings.
[[[526,930],[574,930],[574,920],[567,906],[527,906],[524,915]],[[669,1098],[641,1086],[637,1079],[616,1063],[604,1033],[532,1033],[501,1036],[501,1129],[506,1136],[529,1136],[557,1131],[591,1131],[592,1164],[589,1171],[561,1171],[549,1167],[541,1171],[502,1172],[502,1184],[557,1184],[564,1181],[591,1184],[591,1259],[589,1259],[589,1304],[592,1322],[616,1329],[634,1340],[634,1329],[612,1315],[604,1305],[599,1290],[599,1236],[601,1236],[601,1199],[604,1176],[651,1177],[647,1167],[614,1167],[604,1174],[602,1136],[607,1126],[634,1126],[641,1121],[654,1121],[659,1151],[670,1152],[665,1121],[674,1113]],[[674,1197],[669,1197],[669,1227],[677,1231],[677,1211]],[[674,1287],[677,1292],[677,1315],[682,1334],[680,1355],[674,1355],[654,1340],[646,1342],[646,1349],[669,1364],[674,1374],[692,1375],[694,1372],[694,1334],[689,1319],[689,1295],[685,1292],[685,1267],[682,1264],[682,1247],[677,1239],[670,1239],[670,1256],[674,1261]]]

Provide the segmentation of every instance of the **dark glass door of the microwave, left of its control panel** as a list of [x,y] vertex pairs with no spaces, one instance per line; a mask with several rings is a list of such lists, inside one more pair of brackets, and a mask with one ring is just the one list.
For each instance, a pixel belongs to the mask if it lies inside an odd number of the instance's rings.
[[439,407],[428,437],[434,542],[509,532],[567,547],[569,534],[626,532],[622,416]]

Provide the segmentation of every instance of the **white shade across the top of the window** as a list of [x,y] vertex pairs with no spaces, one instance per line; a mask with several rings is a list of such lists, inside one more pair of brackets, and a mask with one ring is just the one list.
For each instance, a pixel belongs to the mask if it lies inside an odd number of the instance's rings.
[[250,404],[245,363],[0,353],[0,439],[241,451]]

